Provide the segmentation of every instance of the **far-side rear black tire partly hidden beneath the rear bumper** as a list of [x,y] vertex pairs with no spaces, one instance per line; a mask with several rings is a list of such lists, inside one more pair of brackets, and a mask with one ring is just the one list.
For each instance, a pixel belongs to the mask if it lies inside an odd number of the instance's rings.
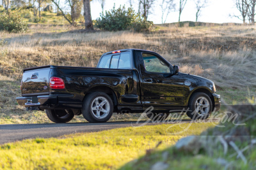
[[54,123],[67,123],[74,118],[70,110],[45,110],[47,117]]

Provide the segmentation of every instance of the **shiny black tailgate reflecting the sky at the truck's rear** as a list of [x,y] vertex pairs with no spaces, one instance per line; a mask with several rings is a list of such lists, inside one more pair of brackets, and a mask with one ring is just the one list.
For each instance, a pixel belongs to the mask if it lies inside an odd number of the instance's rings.
[[22,96],[49,94],[50,67],[24,70],[21,81]]

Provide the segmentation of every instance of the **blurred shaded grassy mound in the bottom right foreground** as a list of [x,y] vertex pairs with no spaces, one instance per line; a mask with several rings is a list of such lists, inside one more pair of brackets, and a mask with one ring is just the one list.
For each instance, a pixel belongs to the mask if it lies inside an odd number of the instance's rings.
[[[236,110],[241,114],[236,123],[244,122],[245,125],[220,123],[223,127],[207,129],[182,148],[171,146],[143,155],[120,169],[150,169],[160,163],[168,169],[256,169],[255,103],[236,107]],[[244,160],[237,150],[241,151]]]

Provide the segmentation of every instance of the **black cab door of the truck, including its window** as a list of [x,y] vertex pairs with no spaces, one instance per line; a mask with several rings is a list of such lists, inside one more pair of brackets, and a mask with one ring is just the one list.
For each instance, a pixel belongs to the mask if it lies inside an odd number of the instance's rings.
[[[155,53],[141,53],[142,101],[144,106],[183,106],[184,79],[171,72],[173,67]],[[169,75],[169,77],[166,77]]]

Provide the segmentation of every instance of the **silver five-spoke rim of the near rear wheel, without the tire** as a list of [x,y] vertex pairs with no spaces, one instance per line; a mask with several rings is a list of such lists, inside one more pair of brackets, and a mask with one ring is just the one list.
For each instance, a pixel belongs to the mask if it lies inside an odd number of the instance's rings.
[[91,105],[92,115],[96,118],[106,118],[110,111],[110,104],[105,97],[96,97]]

